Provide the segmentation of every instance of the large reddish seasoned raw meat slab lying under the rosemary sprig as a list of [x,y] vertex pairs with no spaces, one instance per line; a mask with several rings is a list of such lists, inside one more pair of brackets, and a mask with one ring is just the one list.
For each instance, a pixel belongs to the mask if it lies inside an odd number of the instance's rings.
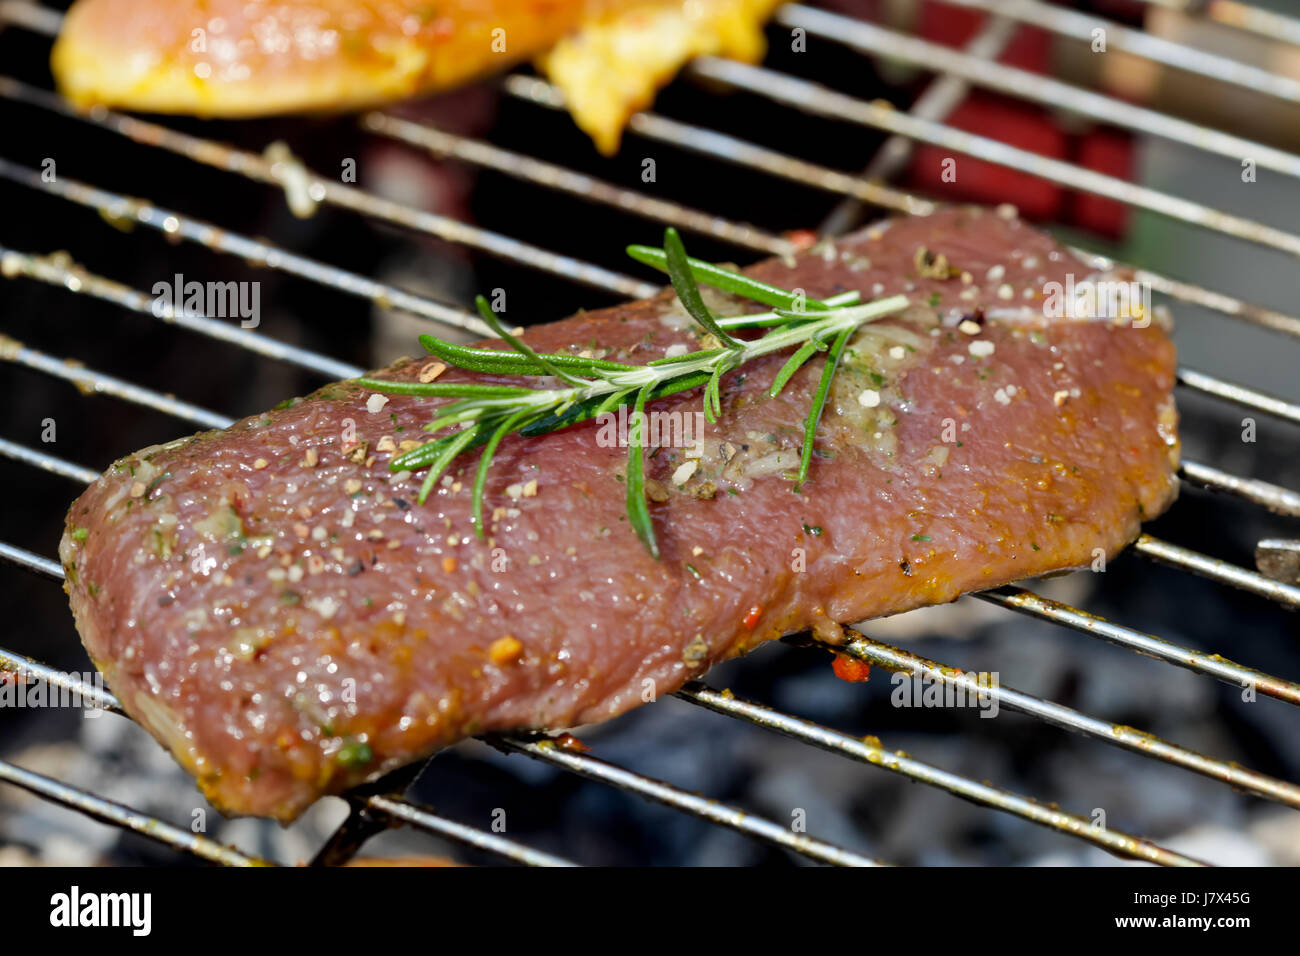
[[[689,476],[662,434],[660,561],[607,424],[507,438],[480,540],[477,454],[424,506],[421,476],[387,468],[437,403],[339,382],[127,455],[81,496],[60,557],[91,657],[213,804],[289,821],[465,735],[614,717],[783,633],[1088,566],[1173,501],[1166,323],[1044,319],[1045,285],[1089,268],[1018,220],[887,221],[749,272],[914,303],[853,339],[802,493],[785,473],[820,360],[777,399],[784,356],[728,375]],[[697,345],[671,291],[526,341],[629,362]]]

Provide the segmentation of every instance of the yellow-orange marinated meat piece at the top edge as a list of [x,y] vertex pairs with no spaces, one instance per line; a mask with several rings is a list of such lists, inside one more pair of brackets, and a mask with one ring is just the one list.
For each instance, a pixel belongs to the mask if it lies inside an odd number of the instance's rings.
[[198,116],[352,109],[543,66],[604,152],[693,56],[757,60],[776,0],[78,0],[74,103]]

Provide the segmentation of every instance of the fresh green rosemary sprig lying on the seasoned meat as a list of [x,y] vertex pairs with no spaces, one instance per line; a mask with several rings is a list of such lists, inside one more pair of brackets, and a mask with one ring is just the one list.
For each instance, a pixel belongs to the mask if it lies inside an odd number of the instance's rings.
[[[727,372],[763,355],[794,349],[768,389],[768,395],[776,397],[806,362],[819,351],[828,351],[812,395],[812,405],[805,419],[803,446],[794,483],[798,490],[807,480],[818,423],[849,336],[858,326],[897,312],[907,304],[904,295],[863,303],[855,291],[827,299],[809,299],[801,293],[692,259],[686,255],[681,237],[673,229],[666,230],[663,248],[629,246],[628,254],[637,261],[668,273],[682,307],[706,337],[716,342],[715,347],[655,359],[645,365],[578,355],[543,354],[506,329],[493,313],[488,300],[480,295],[476,304],[484,321],[510,346],[510,351],[471,349],[433,336],[421,336],[420,343],[448,365],[485,375],[547,377],[559,382],[559,388],[358,380],[361,386],[376,392],[455,399],[439,406],[425,425],[425,431],[437,437],[398,455],[389,464],[394,472],[428,468],[420,486],[421,505],[434,483],[458,455],[482,446],[473,481],[473,523],[478,536],[484,537],[484,494],[488,472],[498,445],[507,434],[545,434],[612,411],[630,399],[633,411],[625,479],[628,520],[650,554],[658,558],[659,544],[645,489],[646,406],[667,395],[703,386],[705,415],[710,421],[716,421],[723,414],[722,380]],[[710,285],[758,302],[771,307],[772,311],[715,316],[705,304],[699,285]],[[740,329],[766,329],[766,332],[749,339],[731,334]]]

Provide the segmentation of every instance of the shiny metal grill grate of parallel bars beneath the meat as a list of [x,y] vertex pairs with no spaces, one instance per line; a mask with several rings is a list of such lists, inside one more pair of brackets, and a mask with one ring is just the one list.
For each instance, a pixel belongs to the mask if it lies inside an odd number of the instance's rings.
[[[991,20],[985,31],[967,47],[967,51],[959,52],[876,25],[802,5],[790,4],[784,7],[776,17],[777,22],[783,26],[802,27],[810,34],[845,44],[859,53],[872,56],[885,55],[893,60],[939,72],[941,74],[940,79],[918,100],[911,113],[900,113],[878,104],[857,100],[809,81],[762,66],[703,59],[693,64],[688,70],[693,78],[707,81],[714,86],[744,90],[777,104],[793,105],[809,113],[861,124],[892,134],[892,139],[887,140],[885,150],[878,155],[878,160],[868,168],[866,176],[853,176],[820,166],[703,126],[693,126],[654,113],[641,113],[633,117],[629,130],[632,134],[651,140],[672,143],[688,151],[737,164],[753,172],[829,191],[842,196],[845,203],[850,206],[853,203],[867,203],[913,215],[924,215],[933,207],[924,198],[910,195],[884,185],[872,177],[887,177],[894,172],[898,165],[898,157],[906,157],[907,150],[914,143],[940,144],[1071,189],[1108,196],[1132,207],[1149,209],[1162,216],[1245,239],[1288,255],[1300,255],[1300,235],[1239,216],[1227,215],[1176,195],[1136,186],[1063,161],[1050,160],[993,139],[967,134],[945,125],[942,121],[942,117],[965,95],[966,85],[975,85],[1079,113],[1110,125],[1140,130],[1145,134],[1162,137],[1208,152],[1232,157],[1249,155],[1256,157],[1261,166],[1287,176],[1300,176],[1300,156],[1253,143],[1240,137],[1206,129],[1152,109],[1135,107],[1106,95],[1072,87],[1052,78],[1028,74],[998,64],[996,56],[1010,36],[1010,25],[1015,22],[1031,22],[1049,31],[1074,38],[1088,36],[1093,27],[1104,25],[1108,29],[1110,43],[1115,48],[1126,49],[1143,59],[1175,66],[1180,70],[1209,75],[1256,94],[1300,103],[1300,82],[1268,73],[1258,68],[1245,66],[1236,61],[1223,60],[1204,51],[1171,43],[1139,30],[1106,23],[1096,17],[1045,5],[1035,0],[1004,0],[1001,3],[993,3],[992,0],[948,1],[958,7],[996,13],[1000,17],[1005,17],[1005,20]],[[1192,9],[1193,7],[1191,0],[1145,1],[1152,5],[1174,9]],[[1199,12],[1200,5],[1195,5],[1195,9]],[[1216,3],[1210,5],[1205,16],[1209,18],[1226,18],[1235,26],[1245,30],[1254,30],[1271,36],[1286,36],[1292,42],[1300,42],[1300,21],[1279,17],[1278,14],[1268,14],[1261,10],[1252,10],[1252,8],[1242,4]],[[51,34],[57,30],[58,14],[36,4],[10,0],[0,3],[0,27],[5,22],[16,27]],[[550,85],[536,78],[512,75],[503,81],[502,88],[510,96],[538,107],[551,109],[563,107],[559,92]],[[488,229],[465,225],[446,216],[422,212],[365,193],[358,187],[317,177],[309,172],[304,177],[302,170],[286,170],[277,166],[270,159],[257,153],[237,150],[109,111],[100,109],[87,116],[81,116],[74,113],[49,91],[12,77],[0,77],[0,96],[60,114],[69,120],[92,124],[120,134],[136,144],[153,150],[166,150],[195,163],[214,166],[276,189],[283,187],[292,191],[302,189],[306,183],[312,202],[338,206],[373,221],[464,245],[620,297],[637,298],[656,291],[655,286],[629,276],[512,239]],[[523,179],[529,185],[568,193],[649,220],[673,224],[751,252],[784,255],[794,248],[794,245],[789,239],[755,226],[732,222],[720,216],[688,208],[679,203],[650,198],[564,166],[502,150],[471,137],[436,129],[430,124],[413,124],[390,113],[370,112],[361,117],[360,125],[368,134],[420,147],[437,157],[455,157],[464,163]],[[890,156],[894,159],[887,159]],[[47,182],[36,170],[6,159],[0,159],[0,177],[20,186],[43,190],[52,196],[94,208],[114,221],[143,225],[159,230],[168,237],[194,242],[214,252],[246,259],[257,265],[306,278],[332,290],[360,297],[384,307],[411,312],[433,323],[472,333],[486,333],[486,329],[477,317],[454,304],[438,302],[334,265],[328,265],[281,248],[274,243],[240,235],[183,213],[160,208],[147,200],[134,199],[64,177],[60,177],[55,182]],[[841,206],[841,209],[832,216],[831,221],[842,222],[850,206]],[[1091,252],[1087,252],[1087,255],[1096,258]],[[0,261],[4,264],[3,272],[5,277],[14,278],[21,276],[36,280],[48,285],[61,286],[72,293],[100,298],[135,312],[152,315],[152,299],[144,293],[113,280],[96,276],[57,258],[30,255],[0,246]],[[1148,271],[1140,272],[1139,278],[1149,282],[1156,291],[1164,293],[1175,300],[1204,306],[1286,336],[1300,337],[1300,319],[1295,316],[1253,306],[1234,297]],[[278,342],[190,311],[176,311],[165,315],[162,321],[239,346],[264,358],[290,363],[329,378],[351,377],[363,371],[308,349]],[[0,339],[0,343],[3,343],[0,356],[6,360],[65,378],[83,392],[109,394],[114,398],[150,407],[204,428],[221,428],[231,421],[231,419],[218,412],[182,402],[129,381],[69,364],[62,359],[43,355],[16,342]],[[1180,369],[1179,384],[1183,388],[1200,392],[1216,399],[1264,412],[1291,424],[1300,424],[1300,405],[1294,402],[1222,381],[1195,369]],[[88,468],[5,440],[0,440],[0,455],[72,481],[88,483],[96,477],[96,472]],[[1300,516],[1300,494],[1286,488],[1258,479],[1236,476],[1197,462],[1184,462],[1180,476],[1184,481],[1240,497],[1247,502],[1264,506],[1278,514]],[[1149,561],[1170,564],[1219,584],[1239,588],[1278,602],[1282,606],[1300,607],[1300,588],[1297,587],[1271,580],[1248,568],[1200,554],[1149,535],[1143,535],[1138,540],[1134,545],[1134,551]],[[0,542],[0,558],[44,578],[52,580],[62,579],[62,570],[57,563],[16,545]],[[1265,696],[1290,704],[1300,704],[1300,684],[1297,683],[1245,667],[1218,654],[1205,654],[1158,636],[1104,620],[1023,588],[1000,588],[978,594],[976,597],[996,606],[1065,626],[1079,633],[1191,670],[1200,675],[1217,678],[1235,685],[1251,684]],[[810,637],[789,640],[818,645],[818,641]],[[859,636],[845,648],[838,648],[837,650],[874,666],[890,671],[923,674],[932,680],[945,684],[961,684],[967,680],[967,678],[963,678],[950,667],[927,661],[901,648],[866,636]],[[95,706],[121,713],[116,698],[109,692],[87,687],[77,678],[60,674],[39,661],[0,649],[0,667],[16,671],[25,678],[44,680],[52,685],[74,691]],[[1300,808],[1300,786],[1294,783],[1202,756],[1134,728],[1117,727],[1065,705],[1005,685],[989,688],[989,692],[997,697],[1000,705],[1028,714],[1045,723],[1226,782],[1235,788],[1288,806]],[[945,771],[901,753],[888,752],[871,739],[853,737],[810,721],[781,713],[767,705],[741,700],[729,693],[711,689],[698,682],[688,684],[677,696],[724,717],[783,734],[849,760],[881,766],[893,773],[902,774],[914,782],[937,787],[972,803],[1052,827],[1119,856],[1164,865],[1200,864],[1199,860],[1160,847],[1149,840],[1117,830],[1092,826],[1084,817],[1066,813],[991,784]],[[875,862],[824,840],[792,832],[786,826],[748,814],[738,808],[688,793],[666,782],[644,777],[598,757],[568,749],[555,740],[542,736],[504,735],[491,737],[489,743],[502,750],[523,753],[533,760],[562,767],[573,774],[630,791],[647,800],[664,804],[718,826],[729,827],[819,862],[838,865],[871,865]],[[568,864],[566,860],[542,853],[498,834],[441,817],[426,808],[402,799],[400,793],[406,790],[406,784],[411,782],[413,774],[415,771],[412,770],[399,771],[370,791],[358,791],[348,795],[351,813],[342,827],[333,834],[326,845],[320,851],[315,862],[343,862],[355,855],[365,840],[374,834],[393,826],[407,825],[494,853],[503,860],[528,865]],[[3,761],[0,761],[0,780],[84,813],[95,819],[143,834],[202,860],[229,865],[257,865],[266,862],[142,814],[129,806],[114,804],[66,783]]]

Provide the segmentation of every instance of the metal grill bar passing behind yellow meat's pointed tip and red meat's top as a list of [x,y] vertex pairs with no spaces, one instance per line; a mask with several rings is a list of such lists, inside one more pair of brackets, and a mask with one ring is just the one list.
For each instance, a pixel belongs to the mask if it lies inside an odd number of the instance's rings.
[[[536,103],[547,109],[564,109],[564,98],[560,91],[541,79],[519,75],[507,77],[503,88],[512,96]],[[867,182],[858,176],[837,169],[793,159],[785,153],[755,146],[744,139],[681,124],[676,120],[667,120],[654,113],[637,113],[629,120],[628,129],[655,142],[688,148],[724,163],[758,169],[789,182],[872,203],[881,208],[906,212],[914,216],[927,216],[936,208],[935,203],[928,199],[922,199],[920,196],[914,196],[880,183]],[[1072,251],[1092,261],[1105,260],[1104,256],[1091,250],[1074,247]],[[1300,337],[1300,317],[1242,302],[1231,295],[1170,278],[1150,269],[1138,269],[1135,274],[1139,281],[1147,282],[1154,291],[1164,293],[1179,302],[1210,308],[1232,319],[1240,319],[1262,328],[1273,329],[1274,332]]]

